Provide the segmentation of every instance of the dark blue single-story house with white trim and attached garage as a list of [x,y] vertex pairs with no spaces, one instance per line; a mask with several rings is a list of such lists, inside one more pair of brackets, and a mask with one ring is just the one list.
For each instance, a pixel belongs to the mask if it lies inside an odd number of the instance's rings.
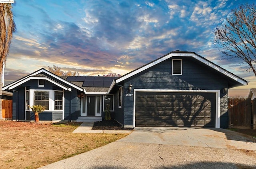
[[124,127],[228,128],[228,88],[244,79],[204,57],[172,51],[122,77],[59,77],[40,69],[3,87],[13,92],[13,120],[99,121],[106,105]]

